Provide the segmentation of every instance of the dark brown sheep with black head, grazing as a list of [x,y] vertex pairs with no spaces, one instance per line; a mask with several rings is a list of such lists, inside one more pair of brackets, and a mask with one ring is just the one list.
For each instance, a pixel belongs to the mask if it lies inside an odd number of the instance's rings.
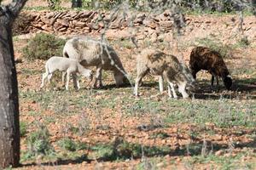
[[209,71],[212,74],[212,88],[214,77],[217,81],[218,88],[218,77],[221,77],[225,88],[230,90],[232,86],[232,78],[227,66],[224,63],[224,59],[221,55],[205,47],[196,47],[192,49],[189,60],[189,67],[192,72],[192,76],[196,79],[196,73],[201,70]]

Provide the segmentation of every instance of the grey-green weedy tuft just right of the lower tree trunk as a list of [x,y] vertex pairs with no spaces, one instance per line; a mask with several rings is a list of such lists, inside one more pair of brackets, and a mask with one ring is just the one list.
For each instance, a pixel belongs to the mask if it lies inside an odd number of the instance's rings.
[[49,131],[44,125],[39,125],[38,131],[31,133],[26,138],[28,150],[22,159],[30,159],[36,156],[54,155],[55,150],[49,142]]

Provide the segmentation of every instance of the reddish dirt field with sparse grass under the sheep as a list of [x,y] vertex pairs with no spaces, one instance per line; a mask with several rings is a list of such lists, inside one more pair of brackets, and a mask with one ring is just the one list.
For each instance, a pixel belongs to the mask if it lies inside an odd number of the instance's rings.
[[[220,18],[212,15],[190,17],[211,18],[211,23],[219,23]],[[210,30],[218,32],[219,27],[212,24]],[[222,30],[220,35],[228,35],[229,31]],[[119,39],[122,32],[115,31],[114,37],[110,32],[107,38],[134,79],[138,50],[131,42]],[[100,35],[94,32],[90,36]],[[200,89],[195,91],[192,99],[168,99],[166,93],[155,95],[158,94],[158,83],[151,76],[145,78],[140,88],[141,96],[136,98],[129,86],[115,88],[113,76],[108,71],[103,73],[105,88],[91,89],[90,82],[83,80],[79,91],[72,88],[66,92],[60,81],[55,82],[58,88],[48,86],[40,90],[45,61],[26,60],[21,48],[30,36],[17,38],[14,41],[15,58],[22,60],[16,65],[20,121],[27,124],[26,135],[21,138],[21,159],[28,150],[26,139],[38,129],[38,124],[49,129],[50,144],[58,153],[53,158],[24,159],[18,169],[256,169],[256,43],[255,37],[247,36],[250,45],[236,47],[232,56],[224,59],[234,80],[232,91],[225,91],[223,85],[219,91],[212,91],[210,75],[201,71],[198,76]],[[195,34],[184,39],[172,53],[183,56],[188,64],[189,53],[195,47]],[[73,127],[79,132],[74,133]],[[57,143],[63,138],[90,147],[111,144],[121,138],[129,144],[167,147],[171,151],[104,160],[92,149],[62,150]],[[199,149],[195,150],[194,145]]]

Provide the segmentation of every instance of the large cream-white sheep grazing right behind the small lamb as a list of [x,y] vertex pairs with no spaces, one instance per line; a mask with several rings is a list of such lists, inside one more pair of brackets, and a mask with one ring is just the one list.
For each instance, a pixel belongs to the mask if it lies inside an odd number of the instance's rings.
[[63,56],[78,59],[81,65],[96,66],[94,87],[102,87],[102,70],[113,71],[116,85],[127,82],[127,74],[118,54],[108,44],[89,37],[73,37],[63,48]]

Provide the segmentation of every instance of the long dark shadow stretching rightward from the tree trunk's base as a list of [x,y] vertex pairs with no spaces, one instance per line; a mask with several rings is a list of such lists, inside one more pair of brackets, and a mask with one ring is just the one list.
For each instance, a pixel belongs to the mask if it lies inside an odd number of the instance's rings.
[[[236,148],[255,148],[256,147],[256,139],[247,143],[239,143],[234,144],[231,150]],[[147,145],[137,145],[138,148],[128,146],[127,148],[122,148],[124,145],[121,146],[121,151],[119,151],[119,146],[113,149],[113,154],[110,156],[101,156],[98,157],[97,161],[116,161],[120,159],[141,159],[143,156],[147,157],[155,157],[155,156],[201,156],[201,155],[208,155],[214,154],[218,150],[223,150],[223,153],[230,152],[229,144],[217,144],[209,140],[203,139],[195,139],[195,141],[191,144],[183,144],[177,146],[168,146],[168,150],[160,150],[157,146],[147,146]],[[132,153],[137,153],[137,156],[133,156]],[[86,155],[79,156],[73,160],[58,160],[58,161],[49,161],[41,163],[40,166],[60,166],[60,165],[72,165],[72,164],[79,164],[86,161],[90,163],[91,161],[95,161],[92,159],[88,159]],[[32,167],[38,166],[37,163],[30,163],[30,164],[23,164],[21,167]]]

